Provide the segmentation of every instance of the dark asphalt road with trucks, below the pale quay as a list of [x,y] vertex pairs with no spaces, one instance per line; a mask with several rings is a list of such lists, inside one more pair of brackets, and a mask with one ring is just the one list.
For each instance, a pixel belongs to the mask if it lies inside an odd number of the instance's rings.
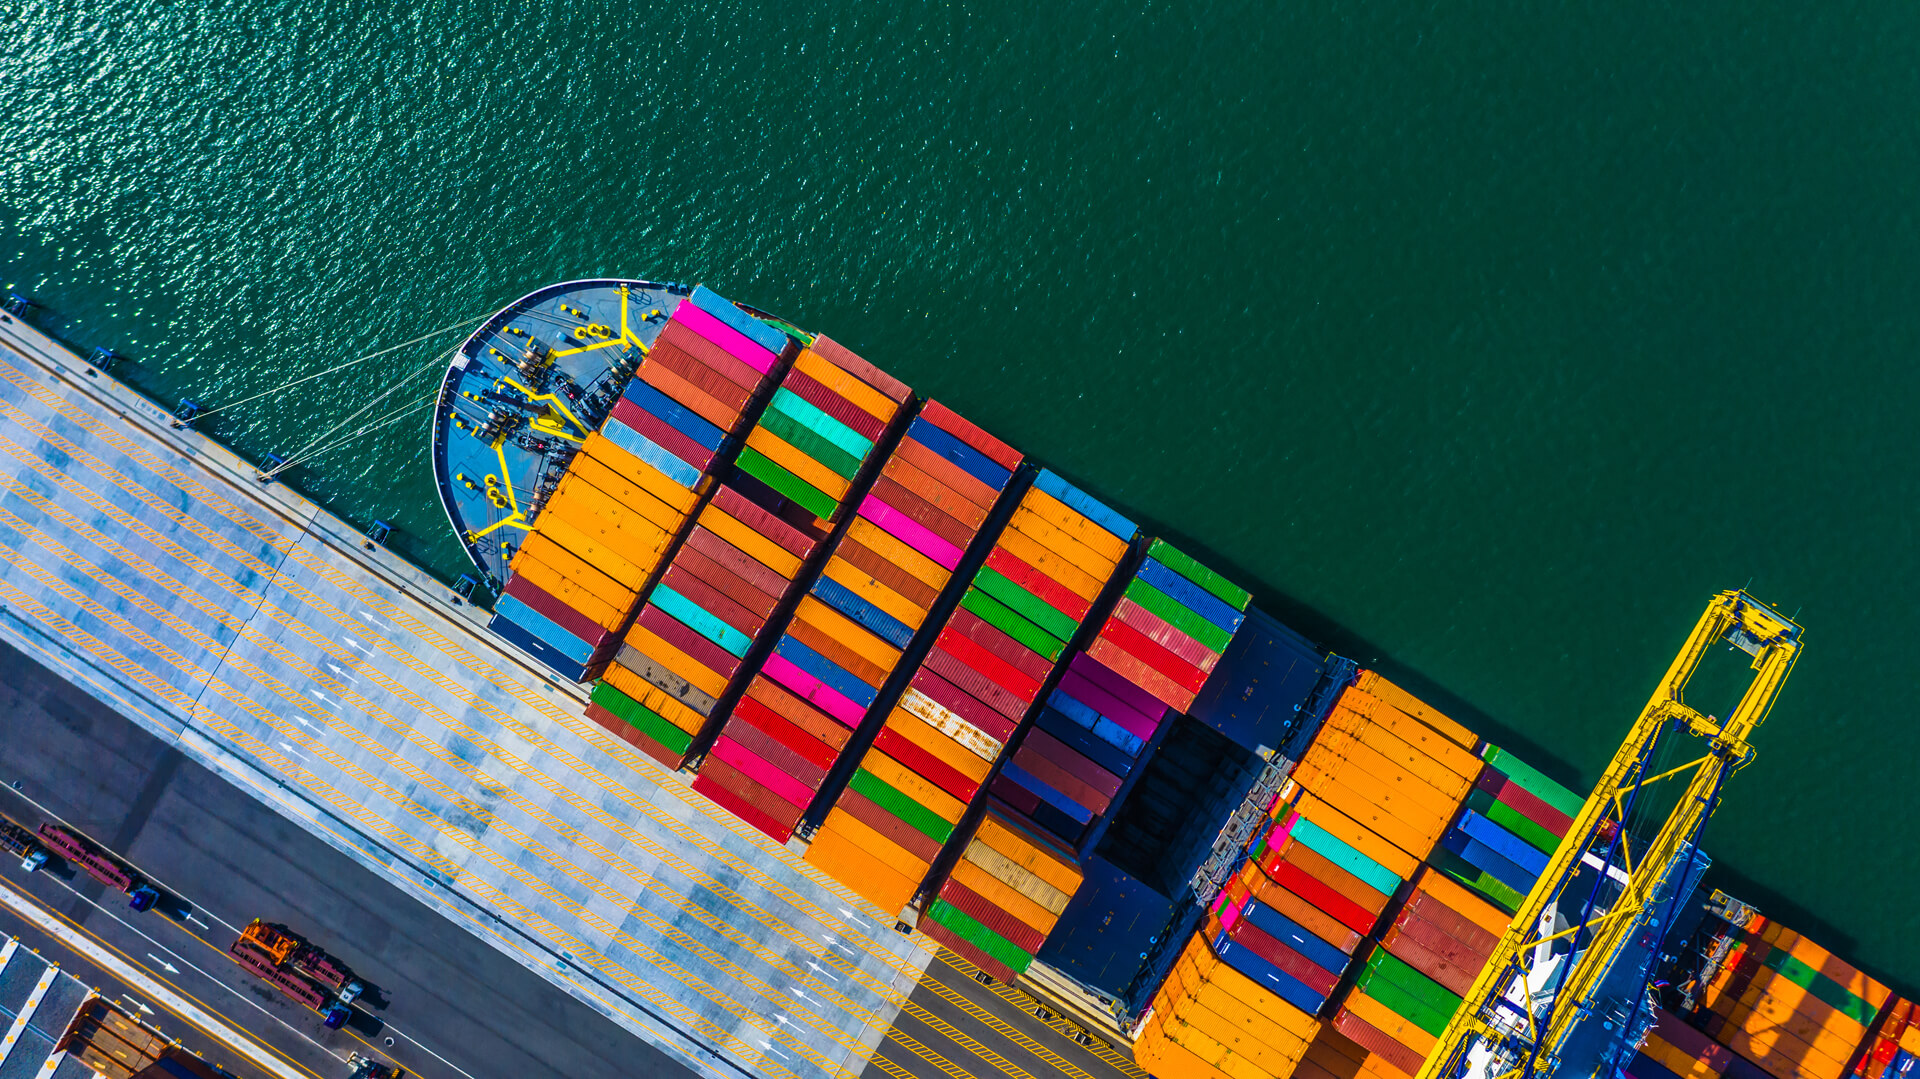
[[[0,812],[27,827],[65,820],[184,900],[184,912],[134,914],[84,874],[23,874],[12,860],[0,868],[17,889],[315,1077],[346,1075],[349,1052],[426,1079],[691,1075],[6,645]],[[317,1014],[227,958],[253,918],[290,925],[374,987],[349,1029],[323,1029]],[[40,937],[6,910],[0,933]],[[109,981],[83,973],[86,964],[69,970]],[[213,1048],[157,1025],[196,1050]],[[217,1050],[207,1056],[227,1066]],[[240,1062],[230,1069],[255,1073]]]

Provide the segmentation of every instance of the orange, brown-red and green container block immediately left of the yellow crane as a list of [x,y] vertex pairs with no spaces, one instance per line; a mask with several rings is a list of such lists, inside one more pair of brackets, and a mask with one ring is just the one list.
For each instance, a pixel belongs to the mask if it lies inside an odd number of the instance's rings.
[[1417,1073],[1505,931],[1507,914],[1423,868],[1332,1027],[1394,1069]]

